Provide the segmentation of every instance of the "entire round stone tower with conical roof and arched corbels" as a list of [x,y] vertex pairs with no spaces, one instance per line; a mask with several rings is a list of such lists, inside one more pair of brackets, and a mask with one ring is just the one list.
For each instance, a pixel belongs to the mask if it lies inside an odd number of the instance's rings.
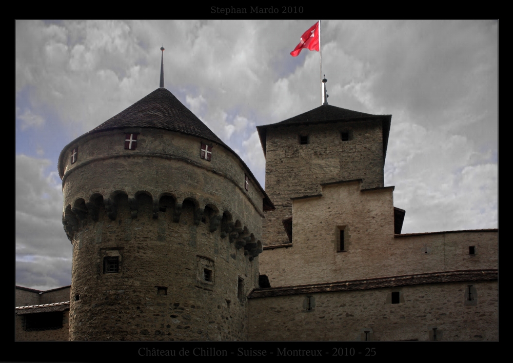
[[59,157],[70,340],[244,340],[263,211],[242,159],[163,88]]

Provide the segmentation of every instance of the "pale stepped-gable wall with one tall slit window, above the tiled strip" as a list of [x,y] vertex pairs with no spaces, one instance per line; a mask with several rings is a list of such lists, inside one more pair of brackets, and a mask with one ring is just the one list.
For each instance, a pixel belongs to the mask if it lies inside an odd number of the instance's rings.
[[[394,237],[392,188],[360,187],[359,181],[328,185],[322,197],[293,201],[292,247],[266,249],[260,258],[271,287],[497,268],[497,231]],[[338,252],[340,229],[344,252]]]

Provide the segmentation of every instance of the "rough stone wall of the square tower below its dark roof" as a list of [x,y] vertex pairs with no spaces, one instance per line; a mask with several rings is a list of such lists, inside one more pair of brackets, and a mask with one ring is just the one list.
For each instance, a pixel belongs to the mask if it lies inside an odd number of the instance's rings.
[[[341,132],[349,133],[348,141]],[[300,135],[308,144],[300,145]],[[276,209],[265,212],[265,245],[289,243],[282,220],[292,216],[292,197],[320,194],[319,184],[338,180],[361,178],[363,188],[383,187],[383,134],[376,120],[269,127],[266,140],[265,188]]]

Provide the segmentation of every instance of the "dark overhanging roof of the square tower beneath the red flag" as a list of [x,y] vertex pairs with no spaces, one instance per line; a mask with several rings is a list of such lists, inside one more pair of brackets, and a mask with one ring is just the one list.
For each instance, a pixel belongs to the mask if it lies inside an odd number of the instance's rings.
[[331,122],[340,121],[357,121],[357,120],[369,120],[369,119],[381,119],[383,121],[383,158],[386,156],[386,149],[388,144],[388,134],[390,132],[390,121],[392,115],[372,115],[370,113],[358,112],[348,110],[342,107],[336,107],[331,105],[322,105],[313,110],[304,112],[294,117],[287,118],[279,123],[257,126],[258,134],[260,137],[260,143],[266,151],[267,142],[267,128],[269,127],[281,127],[281,126],[292,126],[292,125],[306,125],[306,124],[325,124]]

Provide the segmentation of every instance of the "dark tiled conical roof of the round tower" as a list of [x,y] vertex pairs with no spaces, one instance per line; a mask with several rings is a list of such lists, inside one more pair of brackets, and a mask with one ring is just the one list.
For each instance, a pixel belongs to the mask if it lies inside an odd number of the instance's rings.
[[225,146],[218,136],[165,88],[157,88],[87,134],[127,127],[183,132]]

